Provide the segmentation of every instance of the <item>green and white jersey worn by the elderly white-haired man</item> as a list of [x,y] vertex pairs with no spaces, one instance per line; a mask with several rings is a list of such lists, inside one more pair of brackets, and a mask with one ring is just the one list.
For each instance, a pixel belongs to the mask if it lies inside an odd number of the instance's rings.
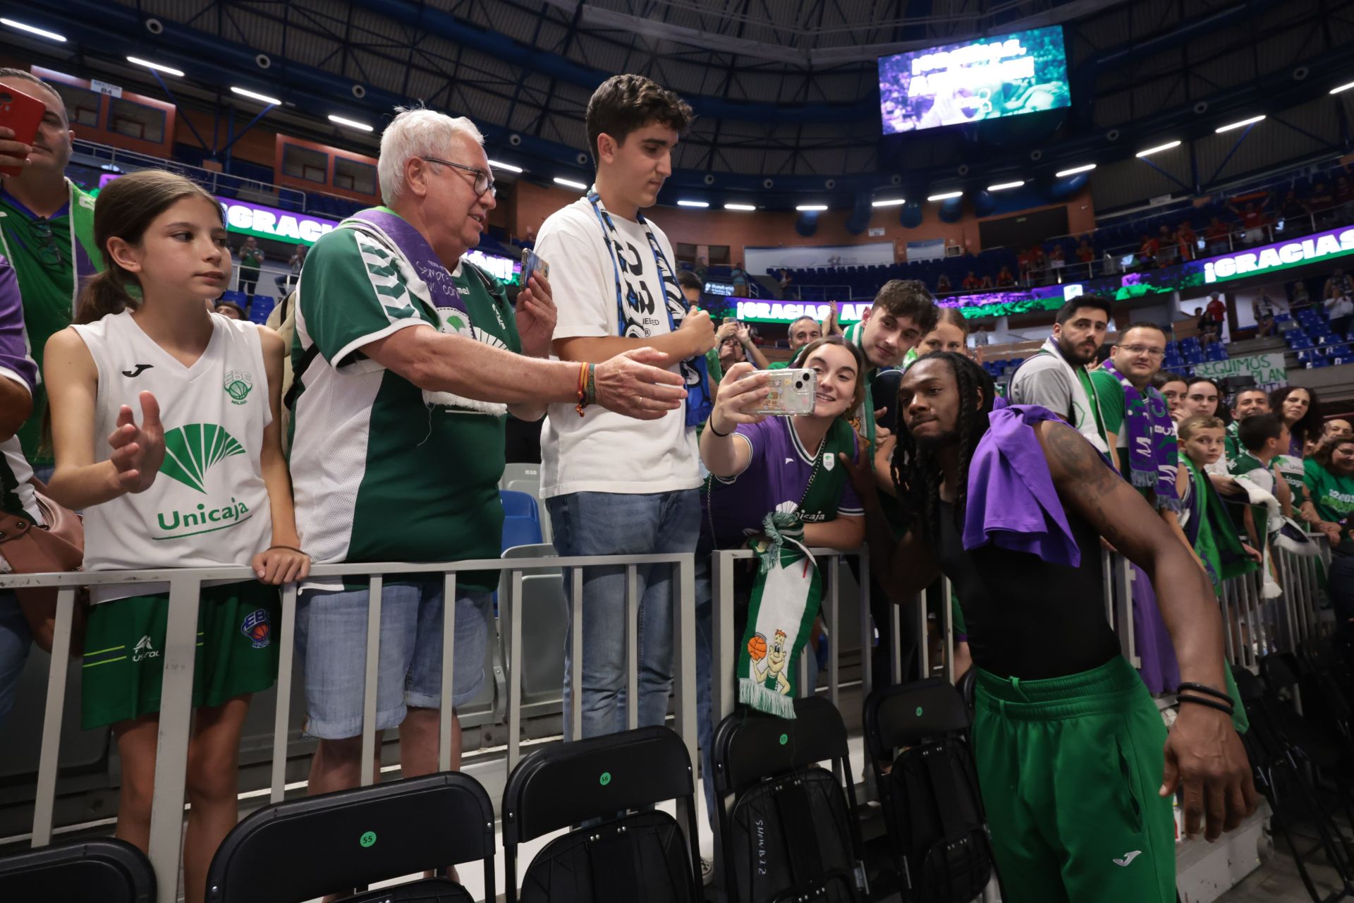
[[[501,283],[471,267],[454,273],[467,322],[433,306],[422,280],[367,233],[338,227],[306,257],[292,364],[311,344],[320,357],[297,367],[291,475],[297,527],[317,563],[498,558],[505,410],[421,390],[362,351],[428,325],[520,352]],[[497,581],[477,571],[459,583]]]

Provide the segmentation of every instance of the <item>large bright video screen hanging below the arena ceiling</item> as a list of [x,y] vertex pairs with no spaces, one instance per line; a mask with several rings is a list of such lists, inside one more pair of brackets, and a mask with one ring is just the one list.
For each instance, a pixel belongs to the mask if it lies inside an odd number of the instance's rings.
[[886,135],[1067,107],[1063,27],[880,57],[879,104]]

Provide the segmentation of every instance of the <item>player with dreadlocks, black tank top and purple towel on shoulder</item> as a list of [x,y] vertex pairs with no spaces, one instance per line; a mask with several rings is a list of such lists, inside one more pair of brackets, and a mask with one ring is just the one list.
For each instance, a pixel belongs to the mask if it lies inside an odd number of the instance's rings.
[[[899,386],[894,479],[913,516],[895,543],[868,467],[842,460],[892,597],[944,571],[978,670],[974,749],[1007,903],[1173,903],[1171,795],[1208,839],[1255,808],[1224,684],[1213,589],[1143,495],[1037,406],[992,409],[963,355]],[[1160,588],[1179,658],[1170,734],[1101,605],[1104,536]]]

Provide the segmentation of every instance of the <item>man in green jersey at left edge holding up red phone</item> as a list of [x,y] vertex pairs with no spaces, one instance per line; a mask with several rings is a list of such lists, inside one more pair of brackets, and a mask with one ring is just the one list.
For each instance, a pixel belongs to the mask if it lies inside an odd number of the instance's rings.
[[[103,257],[93,241],[93,198],[65,175],[74,138],[65,102],[23,69],[0,69],[0,85],[47,106],[23,171],[0,176],[0,255],[19,279],[26,338],[41,371],[47,338],[70,325],[80,280],[97,272]],[[19,148],[26,145],[0,141],[0,154],[24,156]],[[9,161],[0,157],[0,165]],[[38,451],[46,410],[47,391],[39,383],[32,391],[32,413],[19,431],[23,454],[39,479],[47,479],[53,467],[51,452]]]

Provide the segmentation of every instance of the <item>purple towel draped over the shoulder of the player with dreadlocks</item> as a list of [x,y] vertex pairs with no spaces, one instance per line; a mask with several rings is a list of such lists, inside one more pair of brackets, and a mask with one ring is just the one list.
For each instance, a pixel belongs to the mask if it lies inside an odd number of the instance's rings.
[[1039,405],[1010,405],[987,416],[987,433],[968,464],[964,550],[987,543],[1080,567],[1082,551],[1053,489],[1034,424],[1063,418]]

